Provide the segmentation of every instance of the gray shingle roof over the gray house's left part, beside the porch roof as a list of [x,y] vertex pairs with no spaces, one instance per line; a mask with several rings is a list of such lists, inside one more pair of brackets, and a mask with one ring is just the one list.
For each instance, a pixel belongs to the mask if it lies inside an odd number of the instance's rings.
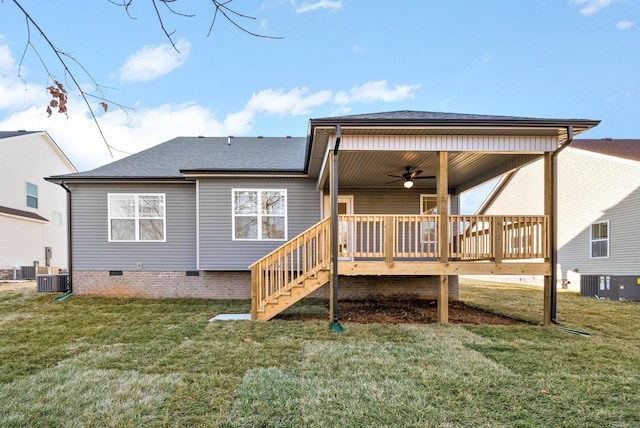
[[300,172],[303,137],[177,137],[91,171],[64,178],[181,178],[181,171]]

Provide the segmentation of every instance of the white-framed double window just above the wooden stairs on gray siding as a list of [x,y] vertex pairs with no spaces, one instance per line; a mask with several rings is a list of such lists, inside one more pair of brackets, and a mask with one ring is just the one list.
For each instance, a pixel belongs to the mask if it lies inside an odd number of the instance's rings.
[[233,239],[287,239],[287,191],[234,189]]

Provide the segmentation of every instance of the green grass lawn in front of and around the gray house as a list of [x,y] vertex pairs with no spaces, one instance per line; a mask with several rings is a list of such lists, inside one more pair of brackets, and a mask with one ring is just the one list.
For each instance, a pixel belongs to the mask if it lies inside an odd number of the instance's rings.
[[[540,322],[538,287],[462,300]],[[562,326],[208,322],[249,302],[0,291],[2,427],[640,425],[640,304],[558,295]],[[326,313],[321,301],[290,309]]]

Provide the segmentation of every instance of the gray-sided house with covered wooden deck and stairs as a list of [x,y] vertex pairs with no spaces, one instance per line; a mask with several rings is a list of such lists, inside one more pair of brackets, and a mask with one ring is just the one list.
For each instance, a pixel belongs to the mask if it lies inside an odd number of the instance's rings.
[[[597,124],[329,117],[302,138],[178,137],[48,180],[70,192],[74,293],[251,297],[253,319],[308,295],[329,296],[334,318],[338,295],[436,297],[446,322],[458,275],[553,274],[552,155]],[[458,215],[460,193],[541,157],[543,215]],[[502,244],[516,233],[526,251]]]

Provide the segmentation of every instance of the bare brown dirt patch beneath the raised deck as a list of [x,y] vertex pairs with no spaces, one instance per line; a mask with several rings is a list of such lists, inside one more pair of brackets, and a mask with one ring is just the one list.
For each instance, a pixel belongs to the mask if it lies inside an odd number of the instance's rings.
[[[338,304],[341,322],[384,324],[431,324],[437,322],[435,300],[341,301]],[[279,319],[319,319],[324,316],[280,314]],[[526,322],[472,308],[462,302],[449,302],[449,323],[484,325],[522,325]]]

